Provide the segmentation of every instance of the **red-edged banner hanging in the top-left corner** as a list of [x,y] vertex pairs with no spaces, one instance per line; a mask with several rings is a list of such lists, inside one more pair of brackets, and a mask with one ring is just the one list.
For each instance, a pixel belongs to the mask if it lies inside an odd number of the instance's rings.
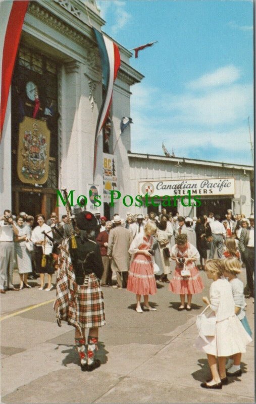
[[28,1],[15,0],[0,2],[0,64],[1,76],[1,101],[0,101],[0,141],[4,127],[8,95],[13,76],[15,59],[20,42],[21,30]]

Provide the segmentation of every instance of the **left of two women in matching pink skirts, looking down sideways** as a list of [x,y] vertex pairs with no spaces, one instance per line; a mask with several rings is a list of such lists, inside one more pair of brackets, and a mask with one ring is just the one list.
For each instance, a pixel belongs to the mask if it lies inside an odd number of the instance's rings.
[[140,297],[144,296],[143,308],[149,311],[156,311],[148,304],[148,295],[157,293],[155,275],[153,273],[152,255],[149,250],[152,248],[153,237],[157,226],[153,222],[147,222],[144,233],[139,233],[132,241],[129,253],[134,255],[128,276],[127,290],[136,293],[136,312],[143,313],[140,306]]

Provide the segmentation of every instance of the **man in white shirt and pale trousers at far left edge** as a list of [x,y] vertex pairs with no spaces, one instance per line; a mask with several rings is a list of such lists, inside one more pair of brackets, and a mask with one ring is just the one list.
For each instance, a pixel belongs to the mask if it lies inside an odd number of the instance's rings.
[[18,229],[8,209],[0,218],[0,289],[5,293],[8,290],[18,291],[13,285],[13,260],[14,260],[14,234],[18,235]]

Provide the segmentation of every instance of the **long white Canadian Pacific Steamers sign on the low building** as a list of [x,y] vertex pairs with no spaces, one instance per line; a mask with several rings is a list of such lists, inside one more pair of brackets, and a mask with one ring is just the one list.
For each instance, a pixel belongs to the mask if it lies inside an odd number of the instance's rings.
[[187,195],[234,195],[234,178],[203,178],[189,180],[163,180],[139,182],[139,194],[149,196]]

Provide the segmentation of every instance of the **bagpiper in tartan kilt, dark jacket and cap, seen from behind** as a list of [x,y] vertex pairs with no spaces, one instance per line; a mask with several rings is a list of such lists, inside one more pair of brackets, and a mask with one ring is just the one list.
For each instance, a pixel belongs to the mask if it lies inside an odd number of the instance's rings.
[[[76,328],[75,343],[80,356],[81,370],[88,372],[100,366],[99,360],[95,359],[94,355],[98,341],[98,327],[105,325],[104,300],[100,289],[100,278],[104,268],[99,246],[89,238],[96,226],[95,216],[82,211],[76,217],[75,245],[74,236],[63,241],[54,306],[58,324],[62,317]],[[65,298],[67,293],[71,297]],[[63,307],[65,302],[66,306],[68,305],[66,311]],[[64,312],[67,313],[66,317],[62,316]],[[87,351],[86,328],[89,328]]]

